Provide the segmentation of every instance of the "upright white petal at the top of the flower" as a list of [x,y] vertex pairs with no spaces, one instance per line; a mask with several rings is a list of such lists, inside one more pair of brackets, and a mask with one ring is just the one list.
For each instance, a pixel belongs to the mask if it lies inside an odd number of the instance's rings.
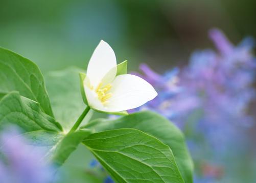
[[111,69],[114,72],[111,76],[115,76],[117,73],[117,59],[113,49],[101,40],[90,58],[86,75],[89,77],[92,86],[96,88]]

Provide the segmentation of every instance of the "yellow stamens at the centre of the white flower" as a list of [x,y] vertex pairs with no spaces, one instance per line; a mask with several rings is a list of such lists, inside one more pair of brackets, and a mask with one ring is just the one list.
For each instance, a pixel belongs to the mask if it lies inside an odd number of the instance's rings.
[[108,99],[112,97],[112,93],[108,93],[109,89],[112,85],[109,83],[105,86],[102,86],[102,82],[99,84],[97,89],[95,90],[96,94],[98,95],[99,100],[102,102],[103,105],[108,103]]

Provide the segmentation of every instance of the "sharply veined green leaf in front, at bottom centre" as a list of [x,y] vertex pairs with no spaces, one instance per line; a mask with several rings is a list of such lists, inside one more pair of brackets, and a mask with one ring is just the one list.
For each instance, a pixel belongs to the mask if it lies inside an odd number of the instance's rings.
[[139,130],[95,133],[83,143],[116,182],[184,182],[170,147]]

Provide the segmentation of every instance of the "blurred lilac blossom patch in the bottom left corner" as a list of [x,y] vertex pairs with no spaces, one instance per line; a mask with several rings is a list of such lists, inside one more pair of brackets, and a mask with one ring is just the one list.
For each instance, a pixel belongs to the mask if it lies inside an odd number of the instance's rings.
[[42,161],[42,154],[28,145],[17,130],[5,130],[0,136],[0,182],[47,183],[53,167]]

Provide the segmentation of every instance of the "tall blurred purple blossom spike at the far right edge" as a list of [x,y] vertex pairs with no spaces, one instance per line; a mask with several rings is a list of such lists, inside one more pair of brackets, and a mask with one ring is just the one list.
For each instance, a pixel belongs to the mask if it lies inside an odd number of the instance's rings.
[[[241,127],[253,123],[247,110],[255,96],[252,87],[255,58],[251,53],[253,44],[248,39],[234,46],[218,29],[210,31],[210,38],[219,53],[209,50],[194,53],[181,80],[190,93],[201,94],[204,115],[199,126],[215,149],[223,150],[228,148],[227,144],[238,143],[235,139],[241,139]],[[202,62],[208,67],[202,66]],[[195,68],[198,68],[196,74]]]

